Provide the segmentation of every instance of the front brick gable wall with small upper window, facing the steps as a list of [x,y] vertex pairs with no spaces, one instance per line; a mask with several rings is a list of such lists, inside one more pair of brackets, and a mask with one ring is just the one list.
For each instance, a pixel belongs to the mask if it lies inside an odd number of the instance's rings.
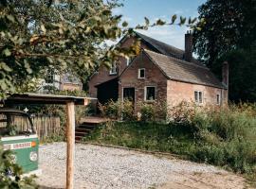
[[[145,78],[137,78],[139,68],[145,68]],[[135,103],[144,101],[145,86],[155,86],[155,98],[166,100],[166,77],[144,53],[141,53],[119,79],[119,98],[122,99],[123,88],[135,87]]]

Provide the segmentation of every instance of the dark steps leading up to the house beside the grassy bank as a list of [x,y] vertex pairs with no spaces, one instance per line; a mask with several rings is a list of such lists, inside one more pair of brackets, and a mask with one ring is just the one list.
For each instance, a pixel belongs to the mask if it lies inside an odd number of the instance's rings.
[[82,138],[88,135],[93,129],[98,128],[101,123],[106,122],[107,119],[102,117],[84,117],[81,120],[81,123],[75,130],[75,142],[79,143],[82,141]]

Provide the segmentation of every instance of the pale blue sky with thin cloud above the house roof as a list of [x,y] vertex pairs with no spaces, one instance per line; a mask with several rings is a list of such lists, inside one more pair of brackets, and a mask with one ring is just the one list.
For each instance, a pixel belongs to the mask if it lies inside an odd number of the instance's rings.
[[[123,7],[114,9],[114,14],[121,14],[122,20],[129,26],[144,23],[144,17],[151,22],[156,19],[171,21],[172,15],[185,17],[197,17],[197,8],[206,0],[121,0]],[[137,30],[149,37],[164,43],[171,44],[177,48],[184,49],[184,35],[186,26],[156,26],[149,30]]]

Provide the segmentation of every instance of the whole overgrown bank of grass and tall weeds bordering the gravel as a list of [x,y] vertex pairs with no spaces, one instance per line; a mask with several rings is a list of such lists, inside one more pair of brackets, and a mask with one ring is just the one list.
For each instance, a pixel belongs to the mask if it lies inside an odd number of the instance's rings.
[[182,103],[170,115],[166,124],[151,119],[110,122],[84,141],[171,152],[255,177],[256,104],[214,110]]

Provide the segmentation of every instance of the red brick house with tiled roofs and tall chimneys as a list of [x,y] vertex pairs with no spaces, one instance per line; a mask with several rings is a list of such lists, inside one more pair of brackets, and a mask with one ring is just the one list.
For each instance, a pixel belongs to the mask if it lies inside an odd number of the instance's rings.
[[[174,106],[181,101],[221,106],[228,103],[229,66],[223,81],[192,58],[192,34],[185,35],[185,51],[135,32],[119,42],[128,47],[135,39],[141,52],[133,60],[120,58],[110,70],[100,67],[89,81],[89,94],[101,103],[126,97],[138,101],[165,100]],[[137,106],[135,106],[137,110]]]

